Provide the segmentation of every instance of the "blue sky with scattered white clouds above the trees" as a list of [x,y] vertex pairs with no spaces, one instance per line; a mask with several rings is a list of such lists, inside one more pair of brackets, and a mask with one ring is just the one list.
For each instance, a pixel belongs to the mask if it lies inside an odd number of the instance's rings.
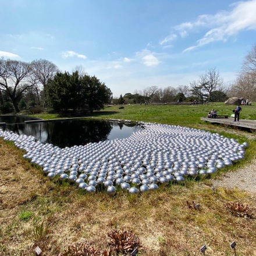
[[232,83],[256,44],[256,0],[0,0],[0,56],[83,66],[114,97],[189,86],[208,69]]

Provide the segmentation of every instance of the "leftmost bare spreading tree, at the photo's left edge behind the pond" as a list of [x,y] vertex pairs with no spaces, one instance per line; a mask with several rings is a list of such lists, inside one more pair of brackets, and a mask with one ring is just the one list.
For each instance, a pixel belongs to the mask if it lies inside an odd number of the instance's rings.
[[0,60],[0,88],[8,94],[16,112],[20,112],[18,104],[23,92],[34,85],[30,83],[31,73],[30,63]]

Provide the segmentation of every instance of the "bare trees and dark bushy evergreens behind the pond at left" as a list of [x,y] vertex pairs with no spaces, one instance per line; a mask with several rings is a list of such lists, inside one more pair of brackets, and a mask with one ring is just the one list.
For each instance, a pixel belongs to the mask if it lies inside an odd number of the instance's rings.
[[88,109],[111,101],[112,92],[81,66],[71,74],[61,72],[45,59],[22,62],[0,59],[0,110],[20,112],[27,106],[50,106],[54,110]]

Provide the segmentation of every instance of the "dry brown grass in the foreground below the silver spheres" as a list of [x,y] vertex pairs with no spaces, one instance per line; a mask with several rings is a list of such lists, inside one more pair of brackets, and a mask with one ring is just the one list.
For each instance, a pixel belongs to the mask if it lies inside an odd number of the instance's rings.
[[[255,219],[238,218],[224,204],[250,205],[255,195],[237,189],[216,189],[204,183],[163,187],[142,195],[79,193],[75,186],[53,183],[0,139],[0,255],[58,255],[69,244],[86,242],[98,250],[109,248],[107,234],[115,228],[132,230],[140,239],[139,255],[256,255]],[[187,202],[200,204],[188,208]],[[23,211],[33,214],[27,221]],[[44,237],[36,237],[36,223],[44,222]]]

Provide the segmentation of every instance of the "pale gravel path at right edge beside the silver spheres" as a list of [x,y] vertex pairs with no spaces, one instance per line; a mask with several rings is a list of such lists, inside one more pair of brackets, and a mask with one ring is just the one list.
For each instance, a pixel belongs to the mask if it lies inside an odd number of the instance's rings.
[[238,187],[256,194],[256,158],[243,169],[234,172],[227,172],[225,175],[212,180],[215,187],[227,187],[232,189]]

